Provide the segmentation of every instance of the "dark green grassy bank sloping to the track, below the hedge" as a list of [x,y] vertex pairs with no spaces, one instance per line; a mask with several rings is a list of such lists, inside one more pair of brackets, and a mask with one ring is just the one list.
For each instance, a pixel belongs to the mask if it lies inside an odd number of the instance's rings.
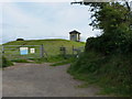
[[70,66],[68,73],[76,79],[100,86],[100,94],[132,96],[132,55],[105,56],[89,51]]

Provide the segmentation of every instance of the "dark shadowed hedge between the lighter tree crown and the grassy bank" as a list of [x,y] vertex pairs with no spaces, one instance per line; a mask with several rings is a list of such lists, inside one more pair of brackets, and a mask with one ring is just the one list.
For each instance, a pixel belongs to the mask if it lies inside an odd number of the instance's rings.
[[87,40],[86,52],[95,50],[105,55],[121,53],[130,54],[132,51],[132,33],[117,33],[116,35],[101,35],[98,37],[90,37]]

